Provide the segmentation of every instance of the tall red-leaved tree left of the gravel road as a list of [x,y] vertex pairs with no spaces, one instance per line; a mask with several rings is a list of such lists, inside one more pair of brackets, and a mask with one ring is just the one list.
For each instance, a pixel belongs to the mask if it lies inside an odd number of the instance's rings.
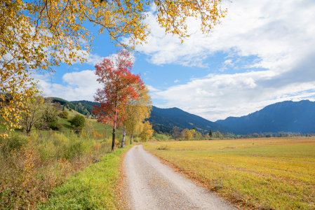
[[112,151],[115,146],[116,127],[122,125],[126,118],[128,99],[137,99],[135,85],[145,88],[139,75],[131,73],[133,59],[129,52],[120,51],[110,58],[104,58],[95,65],[98,82],[103,85],[94,96],[100,107],[94,106],[93,113],[98,115],[98,122],[109,123],[113,127]]

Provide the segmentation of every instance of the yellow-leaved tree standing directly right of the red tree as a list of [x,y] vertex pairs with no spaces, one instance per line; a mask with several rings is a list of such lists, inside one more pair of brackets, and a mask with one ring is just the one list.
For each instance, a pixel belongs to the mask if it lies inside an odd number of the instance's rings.
[[140,85],[136,85],[135,91],[138,94],[138,98],[130,98],[126,107],[126,120],[123,122],[121,147],[124,145],[126,132],[130,135],[130,144],[133,144],[133,135],[136,132],[141,132],[143,121],[149,118],[151,113],[152,101],[149,96],[149,88],[146,86],[142,88]]

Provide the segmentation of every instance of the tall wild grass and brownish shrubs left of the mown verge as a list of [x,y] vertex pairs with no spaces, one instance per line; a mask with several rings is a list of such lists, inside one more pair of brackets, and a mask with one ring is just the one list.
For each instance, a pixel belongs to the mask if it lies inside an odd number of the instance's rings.
[[1,209],[35,209],[69,174],[99,162],[105,153],[107,142],[95,134],[32,132],[0,139]]

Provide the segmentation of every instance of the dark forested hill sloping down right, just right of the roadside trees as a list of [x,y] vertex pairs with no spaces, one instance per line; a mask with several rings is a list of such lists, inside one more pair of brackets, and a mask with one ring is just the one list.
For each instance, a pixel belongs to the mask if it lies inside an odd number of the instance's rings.
[[213,130],[213,132],[217,130],[220,132],[233,132],[233,130],[228,127],[213,123],[178,108],[160,109],[156,106],[152,106],[149,122],[152,123],[154,130],[163,133],[169,133],[174,126],[180,127],[181,129],[188,128],[189,130],[195,127],[196,130],[202,133],[209,132],[209,130]]

